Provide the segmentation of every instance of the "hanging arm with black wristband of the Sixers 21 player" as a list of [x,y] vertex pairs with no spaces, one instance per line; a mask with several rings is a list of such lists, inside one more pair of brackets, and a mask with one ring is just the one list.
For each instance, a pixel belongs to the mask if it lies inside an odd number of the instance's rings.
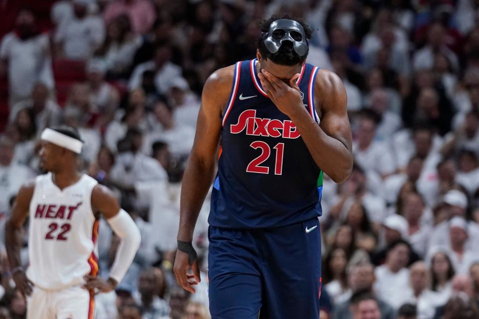
[[[180,227],[178,231],[175,272],[178,284],[195,292],[192,285],[200,282],[198,260],[191,242],[198,214],[213,181],[216,155],[221,131],[221,117],[233,85],[234,66],[214,72],[203,88],[198,114],[195,141],[183,177],[180,201]],[[189,269],[193,275],[188,275]]]

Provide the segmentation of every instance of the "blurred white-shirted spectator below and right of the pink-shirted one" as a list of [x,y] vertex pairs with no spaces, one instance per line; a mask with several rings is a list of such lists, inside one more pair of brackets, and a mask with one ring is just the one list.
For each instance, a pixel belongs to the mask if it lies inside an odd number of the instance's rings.
[[154,71],[154,83],[158,93],[165,94],[170,89],[171,79],[181,75],[181,68],[170,62],[172,52],[167,43],[160,43],[155,49],[153,60],[137,65],[133,70],[128,87],[130,90],[141,87],[145,71]]

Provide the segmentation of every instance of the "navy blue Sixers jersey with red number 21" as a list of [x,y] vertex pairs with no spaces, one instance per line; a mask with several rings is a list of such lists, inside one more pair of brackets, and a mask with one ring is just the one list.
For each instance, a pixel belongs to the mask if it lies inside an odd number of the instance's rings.
[[[321,169],[294,123],[261,88],[256,63],[235,64],[223,116],[211,226],[279,227],[321,215]],[[304,107],[319,123],[313,96],[317,70],[305,64],[297,83]]]

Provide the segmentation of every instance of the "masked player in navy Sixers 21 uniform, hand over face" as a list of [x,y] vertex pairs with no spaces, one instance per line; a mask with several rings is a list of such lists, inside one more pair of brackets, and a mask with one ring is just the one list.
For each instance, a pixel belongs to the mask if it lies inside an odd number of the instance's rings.
[[322,172],[342,182],[353,162],[346,92],[337,75],[305,63],[311,29],[302,21],[272,17],[261,31],[255,59],[205,83],[174,271],[194,291],[192,234],[221,141],[209,216],[212,318],[318,318]]

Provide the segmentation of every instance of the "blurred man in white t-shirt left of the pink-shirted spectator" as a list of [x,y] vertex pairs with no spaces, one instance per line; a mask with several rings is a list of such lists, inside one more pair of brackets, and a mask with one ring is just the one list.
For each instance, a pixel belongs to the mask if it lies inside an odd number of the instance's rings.
[[88,14],[88,0],[73,0],[73,16],[58,26],[57,54],[72,60],[87,60],[103,43],[105,26],[101,17]]

